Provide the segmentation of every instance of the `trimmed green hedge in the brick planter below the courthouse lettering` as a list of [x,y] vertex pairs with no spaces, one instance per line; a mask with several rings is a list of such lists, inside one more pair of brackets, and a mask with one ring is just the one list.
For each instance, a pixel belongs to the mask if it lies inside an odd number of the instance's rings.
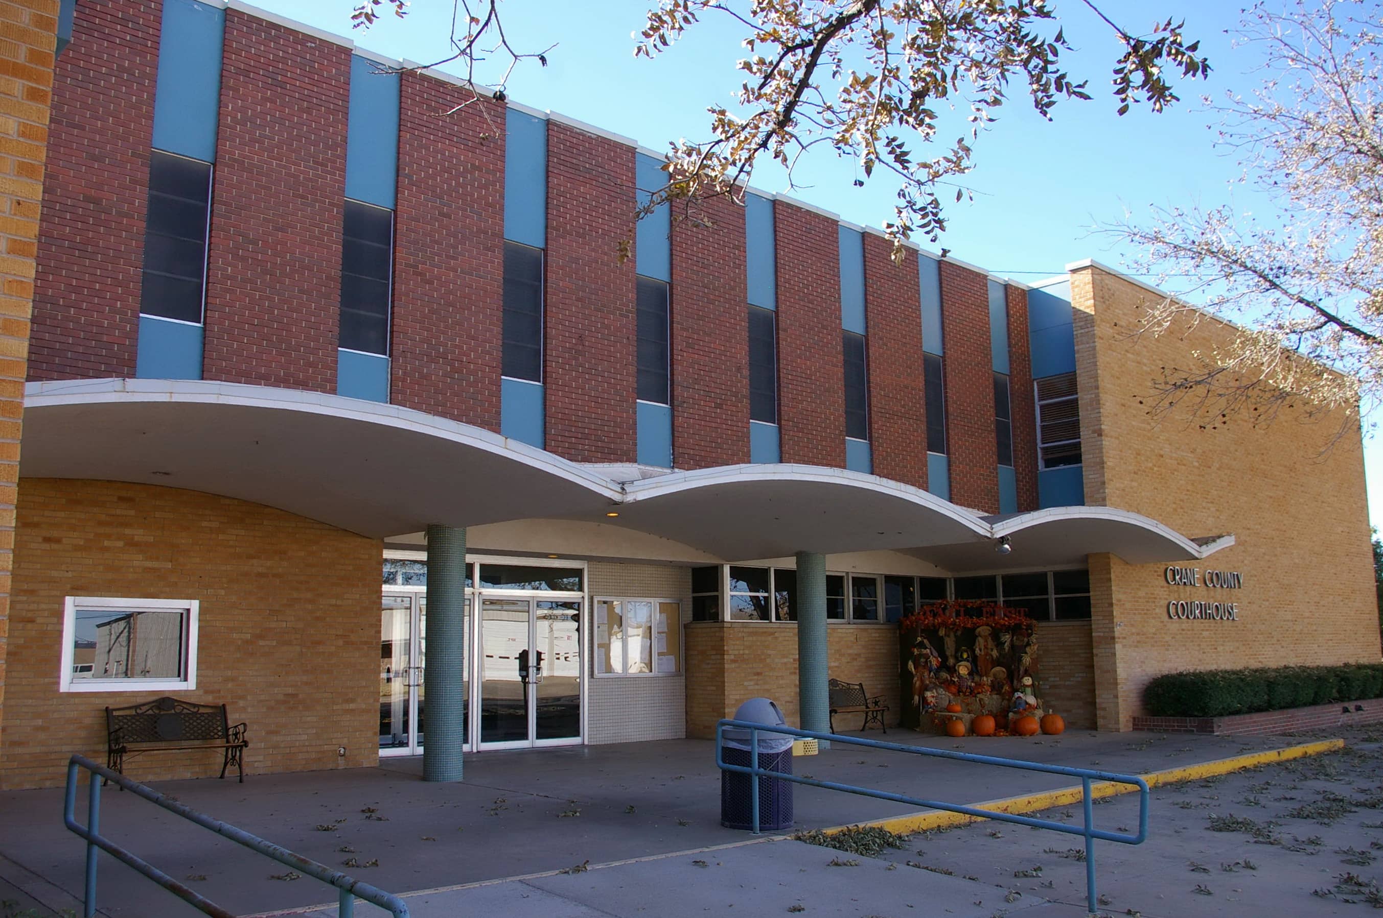
[[1383,697],[1383,664],[1207,669],[1158,676],[1144,690],[1155,718],[1224,718]]

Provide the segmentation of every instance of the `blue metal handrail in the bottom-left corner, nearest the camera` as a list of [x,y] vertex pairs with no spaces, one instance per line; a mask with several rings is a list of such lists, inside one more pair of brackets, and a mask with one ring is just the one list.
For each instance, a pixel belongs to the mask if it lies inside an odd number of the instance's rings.
[[[87,800],[87,824],[82,825],[76,820],[76,806],[77,806],[77,769],[86,769],[91,773],[91,788]],[[145,800],[156,806],[162,806],[170,813],[176,813],[183,818],[196,823],[202,828],[209,828],[217,835],[231,839],[252,852],[259,852],[266,857],[277,860],[279,864],[292,867],[296,871],[301,871],[307,877],[319,879],[328,886],[335,886],[340,890],[337,915],[340,918],[351,918],[355,914],[355,899],[364,899],[368,903],[379,906],[380,908],[389,911],[394,918],[408,918],[408,906],[404,900],[393,893],[386,893],[383,889],[364,883],[354,877],[349,877],[339,870],[332,870],[325,864],[318,864],[314,860],[308,860],[301,854],[295,854],[286,847],[281,847],[272,842],[266,842],[257,835],[250,835],[245,830],[235,828],[228,823],[212,818],[205,813],[198,813],[189,806],[177,803],[167,796],[159,794],[154,788],[140,784],[138,781],[131,781],[130,778],[112,771],[111,769],[97,765],[86,756],[75,755],[68,760],[68,789],[66,796],[62,802],[62,821],[66,827],[82,836],[87,842],[87,863],[86,863],[86,907],[83,910],[83,918],[94,918],[95,915],[95,865],[97,865],[97,849],[101,849],[124,864],[129,864],[138,872],[144,874],[154,882],[156,882],[163,889],[167,889],[178,899],[187,901],[198,911],[213,915],[213,918],[235,918],[234,912],[230,912],[216,903],[207,900],[206,897],[198,894],[195,890],[188,889],[178,881],[173,879],[158,867],[154,867],[141,857],[127,852],[111,839],[101,835],[101,778],[120,785],[126,791],[130,791],[136,796],[142,796]]]

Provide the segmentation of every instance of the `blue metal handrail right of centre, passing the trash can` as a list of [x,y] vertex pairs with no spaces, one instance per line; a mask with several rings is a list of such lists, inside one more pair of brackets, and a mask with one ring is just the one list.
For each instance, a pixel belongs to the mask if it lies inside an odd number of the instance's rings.
[[[725,729],[732,727],[736,730],[750,731],[750,762],[751,765],[730,765],[725,760]],[[1080,778],[1082,791],[1082,809],[1084,810],[1084,825],[1068,825],[1066,823],[1055,823],[1052,820],[1033,818],[1032,816],[1018,816],[1015,813],[1000,813],[997,810],[985,810],[978,806],[964,806],[961,803],[945,803],[942,800],[927,800],[916,796],[906,796],[903,794],[891,794],[888,791],[874,791],[870,788],[855,787],[853,784],[839,784],[837,781],[819,781],[816,778],[809,778],[799,774],[786,774],[783,771],[773,771],[770,769],[759,767],[759,734],[787,734],[792,737],[802,737],[805,740],[817,740],[826,742],[839,742],[844,745],[860,745],[869,747],[871,749],[888,749],[891,752],[907,752],[910,755],[924,755],[934,759],[952,759],[954,762],[975,762],[978,765],[997,765],[1005,769],[1019,769],[1023,771],[1044,771],[1047,774],[1065,774],[1068,777]],[[748,774],[754,778],[769,777],[779,778],[783,781],[792,781],[794,784],[809,784],[812,787],[822,787],[827,791],[844,791],[846,794],[859,794],[860,796],[871,796],[880,800],[893,800],[895,803],[907,803],[910,806],[925,806],[934,810],[946,810],[949,813],[963,813],[965,816],[975,816],[986,820],[997,820],[1000,823],[1017,823],[1018,825],[1032,825],[1033,828],[1046,828],[1052,832],[1065,832],[1068,835],[1080,835],[1086,839],[1086,901],[1090,914],[1097,912],[1098,894],[1095,892],[1095,839],[1104,842],[1120,842],[1123,845],[1142,845],[1148,839],[1148,783],[1134,774],[1116,774],[1113,771],[1095,771],[1093,769],[1073,769],[1065,765],[1047,765],[1044,762],[1025,762],[1022,759],[1001,759],[993,755],[975,755],[972,752],[949,752],[946,749],[932,749],[928,747],[910,747],[899,742],[882,742],[880,740],[863,740],[860,737],[844,737],[835,733],[816,733],[813,730],[798,730],[797,727],[788,726],[769,726],[765,723],[757,723],[752,720],[722,720],[715,727],[715,765],[722,771],[737,771],[740,774]],[[1115,784],[1131,784],[1138,788],[1138,834],[1129,835],[1124,832],[1109,832],[1106,830],[1095,828],[1094,821],[1094,798],[1091,796],[1091,781],[1111,781]],[[750,799],[754,816],[754,834],[759,834],[759,783],[758,780],[750,781]]]

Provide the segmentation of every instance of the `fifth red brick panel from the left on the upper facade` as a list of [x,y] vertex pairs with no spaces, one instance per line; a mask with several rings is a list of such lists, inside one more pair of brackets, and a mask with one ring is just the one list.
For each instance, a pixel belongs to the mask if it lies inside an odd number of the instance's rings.
[[744,210],[700,205],[711,224],[672,231],[672,460],[678,469],[750,460],[750,329]]

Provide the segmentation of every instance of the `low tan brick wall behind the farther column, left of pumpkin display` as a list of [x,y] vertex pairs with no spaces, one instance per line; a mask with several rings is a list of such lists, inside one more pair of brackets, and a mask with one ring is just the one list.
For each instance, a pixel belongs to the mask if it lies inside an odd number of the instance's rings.
[[[714,737],[715,723],[734,715],[750,698],[772,698],[791,726],[798,726],[797,625],[769,622],[696,622],[687,633],[687,736]],[[898,628],[827,625],[830,676],[863,682],[871,695],[885,695],[888,723],[898,722]],[[838,718],[838,730],[859,730]]]

